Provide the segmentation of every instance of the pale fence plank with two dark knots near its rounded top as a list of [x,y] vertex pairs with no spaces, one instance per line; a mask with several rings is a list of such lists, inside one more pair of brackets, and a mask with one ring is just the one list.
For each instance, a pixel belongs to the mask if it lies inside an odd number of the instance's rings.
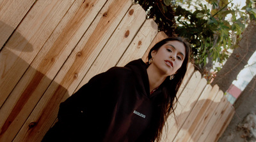
[[78,89],[93,76],[107,71],[110,67],[116,65],[145,19],[145,10],[141,8],[140,4],[133,5],[129,11],[127,11],[124,19],[120,25],[118,25],[116,31],[113,33],[108,43],[106,43],[106,46],[104,46],[97,59],[93,62],[79,87],[77,87]]

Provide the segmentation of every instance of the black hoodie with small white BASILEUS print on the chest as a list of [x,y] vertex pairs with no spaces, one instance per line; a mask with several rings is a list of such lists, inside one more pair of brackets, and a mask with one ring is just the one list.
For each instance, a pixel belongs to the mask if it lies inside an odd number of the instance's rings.
[[149,91],[143,60],[112,67],[60,104],[58,122],[43,141],[148,141],[161,89]]

